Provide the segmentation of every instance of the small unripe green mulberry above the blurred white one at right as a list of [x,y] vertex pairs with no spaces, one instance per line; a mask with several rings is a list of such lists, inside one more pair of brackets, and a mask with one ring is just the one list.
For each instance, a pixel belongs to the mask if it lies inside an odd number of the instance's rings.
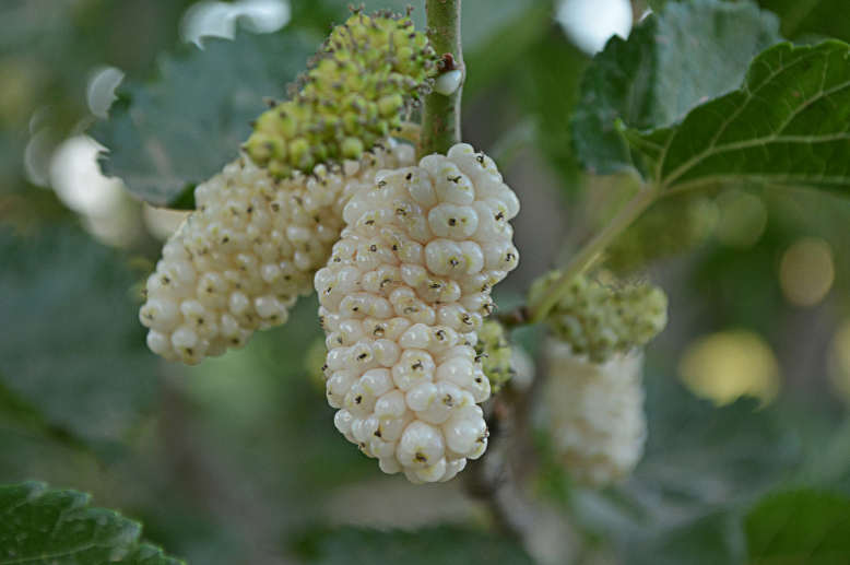
[[[547,292],[560,276],[552,271],[531,287],[529,302]],[[574,279],[546,322],[576,355],[604,363],[616,353],[642,348],[666,326],[668,297],[649,283],[604,284],[586,275]]]

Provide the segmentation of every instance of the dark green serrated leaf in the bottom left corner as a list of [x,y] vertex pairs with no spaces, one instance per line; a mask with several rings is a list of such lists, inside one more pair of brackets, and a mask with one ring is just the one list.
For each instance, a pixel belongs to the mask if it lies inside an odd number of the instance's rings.
[[0,565],[178,565],[140,543],[141,526],[88,507],[74,491],[40,483],[0,486]]

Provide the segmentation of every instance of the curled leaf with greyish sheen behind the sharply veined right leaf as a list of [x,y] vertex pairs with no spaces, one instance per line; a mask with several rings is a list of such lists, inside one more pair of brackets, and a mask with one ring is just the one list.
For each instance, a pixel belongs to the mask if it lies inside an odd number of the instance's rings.
[[780,40],[778,26],[752,2],[690,0],[668,3],[627,40],[613,37],[581,81],[572,121],[579,160],[600,174],[636,166],[618,122],[637,130],[670,126],[736,89],[752,58]]

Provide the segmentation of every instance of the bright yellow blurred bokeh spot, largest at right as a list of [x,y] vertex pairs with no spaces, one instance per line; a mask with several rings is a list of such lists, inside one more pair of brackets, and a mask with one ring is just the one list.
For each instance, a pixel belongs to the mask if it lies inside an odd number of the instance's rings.
[[717,404],[743,396],[764,404],[779,392],[779,364],[770,345],[753,331],[712,333],[692,343],[678,364],[685,385]]

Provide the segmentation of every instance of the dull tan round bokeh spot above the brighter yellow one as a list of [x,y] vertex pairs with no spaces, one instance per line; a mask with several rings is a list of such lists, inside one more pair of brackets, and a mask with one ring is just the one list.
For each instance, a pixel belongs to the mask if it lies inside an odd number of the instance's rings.
[[826,297],[835,280],[829,244],[806,237],[788,248],[779,264],[779,285],[791,304],[814,306]]

